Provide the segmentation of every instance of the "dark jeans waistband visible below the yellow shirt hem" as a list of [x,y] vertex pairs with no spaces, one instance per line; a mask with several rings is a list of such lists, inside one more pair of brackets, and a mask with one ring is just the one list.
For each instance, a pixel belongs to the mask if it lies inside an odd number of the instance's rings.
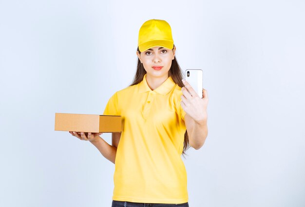
[[189,202],[184,204],[146,204],[113,200],[111,207],[189,207]]

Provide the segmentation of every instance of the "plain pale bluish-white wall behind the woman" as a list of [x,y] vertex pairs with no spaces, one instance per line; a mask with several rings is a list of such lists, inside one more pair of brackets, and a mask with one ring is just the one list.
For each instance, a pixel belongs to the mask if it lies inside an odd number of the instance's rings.
[[209,94],[206,143],[182,157],[190,207],[304,207],[304,11],[303,0],[0,0],[0,206],[111,206],[114,164],[55,131],[55,113],[102,114],[132,83],[140,26],[164,19]]

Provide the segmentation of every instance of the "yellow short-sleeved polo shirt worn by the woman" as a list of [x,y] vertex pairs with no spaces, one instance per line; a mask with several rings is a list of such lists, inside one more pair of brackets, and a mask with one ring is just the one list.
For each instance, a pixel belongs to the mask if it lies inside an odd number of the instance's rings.
[[151,90],[143,80],[117,91],[103,115],[121,115],[113,200],[135,203],[188,202],[181,158],[186,126],[181,87],[168,77]]

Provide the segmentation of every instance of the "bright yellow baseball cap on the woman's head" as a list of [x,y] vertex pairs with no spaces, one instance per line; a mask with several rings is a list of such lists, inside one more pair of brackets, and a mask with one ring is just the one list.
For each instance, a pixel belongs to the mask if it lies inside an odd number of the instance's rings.
[[138,38],[140,52],[155,46],[173,48],[172,29],[170,24],[161,19],[150,19],[141,26]]

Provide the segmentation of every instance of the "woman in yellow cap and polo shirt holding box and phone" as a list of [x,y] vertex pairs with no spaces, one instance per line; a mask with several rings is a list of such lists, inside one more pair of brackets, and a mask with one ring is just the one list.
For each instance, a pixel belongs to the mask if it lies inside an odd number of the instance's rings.
[[113,94],[103,113],[122,116],[122,132],[113,133],[112,146],[101,133],[70,132],[115,163],[112,207],[189,207],[181,154],[205,142],[208,94],[203,89],[200,98],[181,81],[175,50],[168,22],[146,21],[134,81]]

